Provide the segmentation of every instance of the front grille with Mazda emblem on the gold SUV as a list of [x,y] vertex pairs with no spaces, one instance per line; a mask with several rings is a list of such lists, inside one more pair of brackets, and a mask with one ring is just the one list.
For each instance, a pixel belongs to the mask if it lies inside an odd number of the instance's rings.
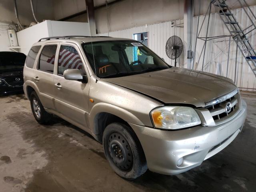
[[231,120],[240,111],[240,94],[237,93],[234,96],[227,98],[226,100],[207,106],[212,118],[216,125]]

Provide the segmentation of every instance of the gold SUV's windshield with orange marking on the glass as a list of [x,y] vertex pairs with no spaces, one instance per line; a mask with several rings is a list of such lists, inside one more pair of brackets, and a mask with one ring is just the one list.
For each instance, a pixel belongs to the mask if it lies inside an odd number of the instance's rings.
[[96,75],[100,78],[114,78],[170,68],[154,52],[137,41],[90,42],[83,44],[83,47],[92,69],[94,72],[96,70]]

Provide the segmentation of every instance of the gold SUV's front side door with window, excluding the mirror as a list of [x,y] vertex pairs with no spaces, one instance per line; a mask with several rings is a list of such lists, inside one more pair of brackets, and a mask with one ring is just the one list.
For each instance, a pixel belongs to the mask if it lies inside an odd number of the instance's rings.
[[79,69],[82,75],[88,75],[84,59],[79,48],[73,43],[60,43],[58,49],[58,63],[55,66],[54,76],[54,105],[62,118],[76,126],[88,128],[86,116],[88,115],[88,83],[76,80],[66,80],[63,73],[66,69]]

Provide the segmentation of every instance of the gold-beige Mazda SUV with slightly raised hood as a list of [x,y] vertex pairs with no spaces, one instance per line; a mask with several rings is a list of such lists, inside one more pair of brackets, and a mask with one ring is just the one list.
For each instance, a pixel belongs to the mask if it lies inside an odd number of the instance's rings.
[[236,138],[246,118],[232,80],[170,66],[123,38],[39,40],[26,58],[24,92],[40,124],[55,114],[87,131],[127,179],[199,166]]

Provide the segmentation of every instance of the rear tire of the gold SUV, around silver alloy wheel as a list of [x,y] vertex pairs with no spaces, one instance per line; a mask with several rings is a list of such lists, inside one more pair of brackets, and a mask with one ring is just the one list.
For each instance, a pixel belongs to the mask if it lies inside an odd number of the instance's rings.
[[[35,103],[34,100],[36,100],[37,104],[37,108],[40,110],[40,115],[38,115],[39,113],[35,111]],[[31,106],[31,110],[32,113],[34,115],[34,118],[36,119],[36,121],[40,124],[49,124],[49,122],[52,120],[52,114],[49,114],[48,112],[46,112],[44,110],[44,107],[42,105],[42,103],[40,102],[40,99],[38,98],[36,92],[32,92],[30,94],[30,106]]]

